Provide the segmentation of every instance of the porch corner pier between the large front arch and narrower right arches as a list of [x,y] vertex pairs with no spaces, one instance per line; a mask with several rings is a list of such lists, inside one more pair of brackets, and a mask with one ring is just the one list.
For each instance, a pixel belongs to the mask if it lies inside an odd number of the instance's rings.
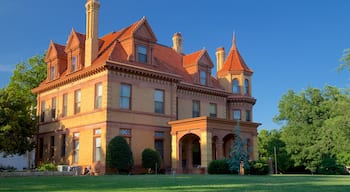
[[201,166],[208,167],[210,161],[212,161],[212,134],[211,132],[201,132]]

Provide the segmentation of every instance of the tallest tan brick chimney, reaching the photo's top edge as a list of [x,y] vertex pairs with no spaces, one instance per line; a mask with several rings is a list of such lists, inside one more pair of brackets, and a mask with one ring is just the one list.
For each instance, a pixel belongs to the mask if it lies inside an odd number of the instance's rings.
[[90,66],[98,54],[98,12],[99,0],[87,0],[86,8],[86,39],[85,67]]

